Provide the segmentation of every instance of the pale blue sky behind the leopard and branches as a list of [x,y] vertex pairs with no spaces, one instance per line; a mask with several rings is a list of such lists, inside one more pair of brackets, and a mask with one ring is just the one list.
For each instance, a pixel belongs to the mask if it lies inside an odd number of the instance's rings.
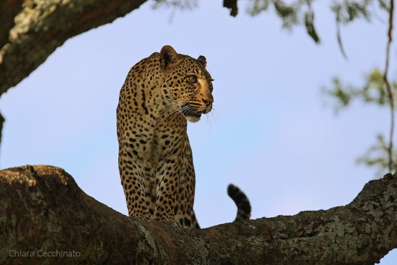
[[[334,76],[359,85],[372,68],[383,68],[386,23],[374,19],[342,27],[344,60],[324,1],[315,5],[321,45],[303,27],[281,29],[274,12],[253,18],[245,12],[249,2],[240,1],[240,14],[232,18],[221,2],[202,1],[191,12],[176,12],[172,22],[171,10],[145,3],[66,41],[1,97],[1,168],[60,166],[86,193],[127,214],[117,166],[118,93],[133,64],[172,45],[194,58],[205,55],[215,79],[217,112],[188,125],[194,209],[202,227],[235,217],[229,183],[248,194],[253,218],[352,201],[366,182],[381,177],[355,160],[376,134],[387,135],[389,112],[356,102],[335,116],[321,88]],[[395,250],[381,264],[396,261]]]

